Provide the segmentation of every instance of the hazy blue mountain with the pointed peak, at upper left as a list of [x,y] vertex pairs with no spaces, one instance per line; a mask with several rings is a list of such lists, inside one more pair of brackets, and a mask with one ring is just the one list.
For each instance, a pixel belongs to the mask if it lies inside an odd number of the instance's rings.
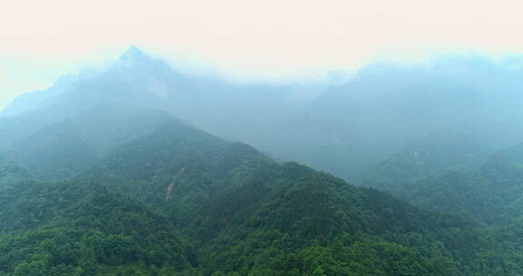
[[[47,91],[24,94],[0,113],[0,132],[5,133],[0,137],[0,152],[65,119],[93,114],[92,110],[108,104],[163,110],[234,141],[271,140],[278,122],[303,105],[297,91],[313,89],[186,74],[136,47],[100,72],[69,79],[67,85],[58,81]],[[26,97],[38,101],[24,104]]]

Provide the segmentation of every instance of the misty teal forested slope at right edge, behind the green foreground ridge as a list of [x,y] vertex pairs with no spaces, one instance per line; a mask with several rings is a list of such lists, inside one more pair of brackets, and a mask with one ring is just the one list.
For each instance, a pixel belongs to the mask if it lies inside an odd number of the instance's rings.
[[488,225],[508,225],[520,219],[523,208],[521,153],[521,144],[499,150],[468,171],[427,173],[411,167],[413,178],[390,173],[389,186],[383,188],[425,209],[458,214]]

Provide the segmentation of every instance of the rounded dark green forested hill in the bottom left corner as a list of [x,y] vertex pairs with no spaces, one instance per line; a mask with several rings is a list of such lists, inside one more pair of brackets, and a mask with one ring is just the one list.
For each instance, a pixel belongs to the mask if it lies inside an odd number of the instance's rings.
[[32,181],[0,191],[2,275],[143,275],[195,265],[172,223],[121,192]]

